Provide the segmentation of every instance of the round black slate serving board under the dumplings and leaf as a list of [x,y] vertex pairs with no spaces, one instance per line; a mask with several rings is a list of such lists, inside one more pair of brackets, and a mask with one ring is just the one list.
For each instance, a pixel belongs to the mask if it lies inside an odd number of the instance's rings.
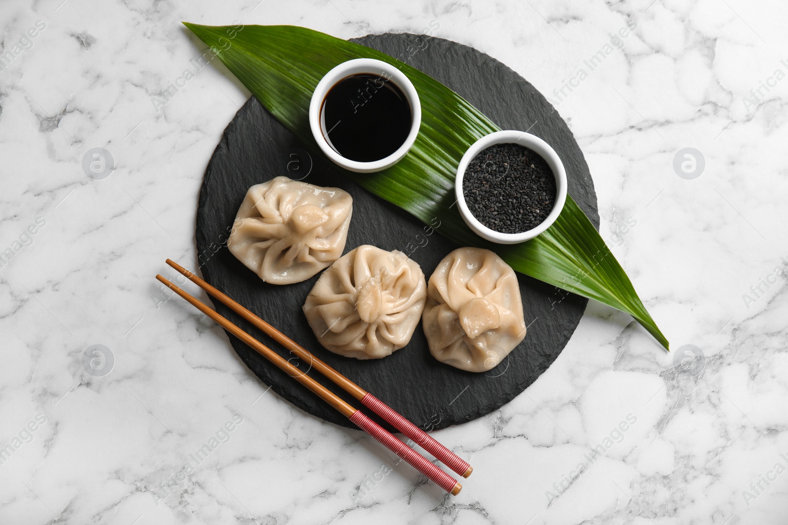
[[[566,166],[569,193],[598,227],[597,198],[582,152],[552,105],[525,79],[486,54],[444,39],[386,34],[365,36],[355,42],[407,61],[433,76],[500,128],[528,130],[545,139]],[[437,233],[426,235],[424,224],[352,183],[340,168],[321,154],[307,153],[304,146],[255,98],[250,98],[227,126],[206,170],[197,209],[197,250],[200,268],[209,283],[427,429],[484,416],[511,401],[545,372],[566,346],[587,300],[525,275],[519,275],[519,283],[528,333],[507,359],[490,372],[463,372],[434,360],[421,325],[410,345],[380,360],[355,360],[323,349],[301,311],[319,274],[303,283],[285,286],[263,283],[224,246],[248,187],[285,175],[292,179],[306,176],[304,180],[310,183],[347,190],[353,196],[353,218],[345,253],[361,244],[412,252],[411,258],[421,264],[428,279],[438,262],[457,246]],[[262,342],[292,357],[224,305],[215,301],[214,305]],[[352,427],[352,423],[284,372],[236,338],[229,338],[243,362],[277,394],[299,409]],[[316,372],[310,375],[330,385]],[[343,397],[350,401],[347,395]]]

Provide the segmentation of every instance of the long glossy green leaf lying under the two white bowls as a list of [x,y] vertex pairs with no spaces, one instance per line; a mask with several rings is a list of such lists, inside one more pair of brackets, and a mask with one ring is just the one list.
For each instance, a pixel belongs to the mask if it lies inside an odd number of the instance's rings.
[[452,208],[455,172],[468,146],[499,128],[454,91],[387,54],[307,28],[184,24],[285,128],[315,150],[308,109],[325,73],[363,57],[400,68],[422,102],[422,127],[413,148],[382,172],[345,173],[426,224],[440,220],[437,231],[460,245],[495,250],[518,272],[630,313],[668,349],[623,268],[571,197],[552,227],[528,242],[492,245],[470,231]]

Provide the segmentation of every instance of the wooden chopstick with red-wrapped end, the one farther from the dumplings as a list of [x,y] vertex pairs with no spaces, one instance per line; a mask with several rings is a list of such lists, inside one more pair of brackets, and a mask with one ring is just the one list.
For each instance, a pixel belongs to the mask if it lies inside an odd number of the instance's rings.
[[456,479],[452,478],[451,475],[440,470],[440,468],[437,468],[432,462],[427,460],[426,457],[423,457],[414,449],[405,445],[405,443],[396,438],[394,434],[375,423],[362,411],[348,405],[346,401],[338,397],[331,390],[322,386],[322,384],[312,379],[309,375],[303,374],[298,368],[290,364],[288,360],[284,359],[284,357],[281,357],[278,353],[269,349],[268,346],[263,345],[262,342],[259,342],[239,327],[236,327],[235,324],[232,324],[214,310],[203,305],[202,302],[198,301],[184,290],[170,283],[169,280],[162,277],[162,275],[156,275],[156,279],[162,282],[165,287],[169,287],[170,290],[180,295],[180,297],[184,298],[200,312],[203,312],[206,316],[216,321],[217,324],[220,324],[221,327],[229,331],[232,335],[235,335],[236,338],[239,338],[252,349],[260,353],[262,357],[266,357],[267,360],[275,364],[278,368],[281,368],[282,371],[286,372],[293,379],[296,379],[296,381],[303,386],[306,386],[309,390],[314,392],[314,394],[318,394],[318,397],[323,401],[333,406],[333,408],[338,410],[343,416],[347,417],[357,427],[361,428],[362,431],[366,431],[367,434],[370,434],[370,436],[375,438],[378,442],[381,442],[386,448],[407,461],[407,463],[411,464],[416,470],[426,475],[427,478],[436,482],[440,488],[455,496],[462,490],[463,486],[460,485]]

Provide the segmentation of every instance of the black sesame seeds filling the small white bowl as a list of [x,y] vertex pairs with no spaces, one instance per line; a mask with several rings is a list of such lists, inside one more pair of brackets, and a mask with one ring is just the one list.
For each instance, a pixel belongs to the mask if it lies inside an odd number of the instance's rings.
[[536,152],[519,144],[498,144],[470,161],[463,194],[481,224],[502,233],[520,233],[550,214],[556,179]]

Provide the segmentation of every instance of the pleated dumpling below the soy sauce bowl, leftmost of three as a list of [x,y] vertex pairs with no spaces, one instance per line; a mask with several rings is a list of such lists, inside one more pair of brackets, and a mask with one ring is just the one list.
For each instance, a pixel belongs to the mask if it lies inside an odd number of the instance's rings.
[[275,177],[249,188],[227,247],[267,283],[300,283],[342,255],[352,212],[347,191]]

